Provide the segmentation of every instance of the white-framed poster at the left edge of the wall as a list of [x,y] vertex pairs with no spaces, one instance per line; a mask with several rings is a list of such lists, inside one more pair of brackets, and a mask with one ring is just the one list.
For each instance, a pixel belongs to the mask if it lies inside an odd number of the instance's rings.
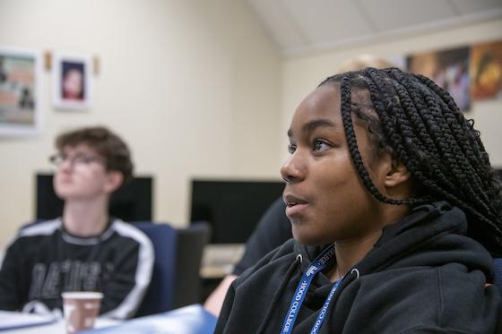
[[0,135],[30,135],[41,126],[42,56],[0,47]]

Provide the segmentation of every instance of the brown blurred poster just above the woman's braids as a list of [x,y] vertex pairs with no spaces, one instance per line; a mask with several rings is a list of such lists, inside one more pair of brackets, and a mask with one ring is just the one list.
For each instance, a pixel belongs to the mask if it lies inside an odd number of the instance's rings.
[[432,51],[408,56],[408,71],[427,76],[448,90],[462,111],[471,109],[469,47]]

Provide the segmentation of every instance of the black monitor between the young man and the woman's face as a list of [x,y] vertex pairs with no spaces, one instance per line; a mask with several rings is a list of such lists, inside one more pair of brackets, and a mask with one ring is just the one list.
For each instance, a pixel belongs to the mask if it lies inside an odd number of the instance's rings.
[[264,211],[281,197],[284,182],[192,181],[190,221],[212,225],[212,244],[246,243]]

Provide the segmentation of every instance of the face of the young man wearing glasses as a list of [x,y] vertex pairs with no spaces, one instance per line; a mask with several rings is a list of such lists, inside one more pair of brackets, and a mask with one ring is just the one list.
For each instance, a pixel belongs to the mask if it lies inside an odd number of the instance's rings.
[[78,144],[66,146],[60,153],[62,161],[54,177],[58,197],[65,201],[85,201],[108,196],[109,172],[95,150]]

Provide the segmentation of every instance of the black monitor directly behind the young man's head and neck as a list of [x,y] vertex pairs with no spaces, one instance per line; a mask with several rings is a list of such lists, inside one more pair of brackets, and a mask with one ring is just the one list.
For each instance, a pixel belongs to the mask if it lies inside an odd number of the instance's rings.
[[[61,216],[63,201],[56,196],[52,175],[38,174],[36,180],[37,210],[35,219],[52,219]],[[125,221],[151,220],[151,176],[134,177],[124,184],[109,201],[109,214]]]

